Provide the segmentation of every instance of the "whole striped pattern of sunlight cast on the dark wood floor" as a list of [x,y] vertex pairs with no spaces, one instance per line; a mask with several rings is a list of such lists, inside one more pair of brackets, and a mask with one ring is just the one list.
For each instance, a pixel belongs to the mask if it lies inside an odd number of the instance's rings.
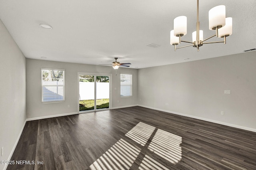
[[[158,159],[164,158],[172,164],[182,159],[182,137],[164,130],[138,123],[125,136],[140,144],[135,147],[124,139],[118,140],[100,158],[90,165],[91,170],[129,170],[135,160],[139,170],[168,170],[162,163],[154,160],[147,154],[142,154],[142,149],[150,151]],[[146,146],[145,146],[146,145]],[[138,148],[140,147],[140,148]],[[160,156],[160,157],[159,157]],[[142,159],[142,160],[141,160]],[[139,164],[138,164],[139,162]],[[134,167],[134,166],[133,166]]]

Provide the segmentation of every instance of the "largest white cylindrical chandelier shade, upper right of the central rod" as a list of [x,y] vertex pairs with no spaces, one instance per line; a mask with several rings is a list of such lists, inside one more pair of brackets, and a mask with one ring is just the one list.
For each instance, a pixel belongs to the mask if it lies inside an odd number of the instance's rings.
[[226,7],[224,5],[215,6],[209,10],[209,29],[215,30],[218,26],[225,26]]

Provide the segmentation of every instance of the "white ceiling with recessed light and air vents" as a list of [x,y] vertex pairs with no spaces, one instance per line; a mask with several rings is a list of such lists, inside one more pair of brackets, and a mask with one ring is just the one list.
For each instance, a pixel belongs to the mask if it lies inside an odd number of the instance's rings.
[[[182,15],[188,18],[182,40],[192,41],[196,0],[0,0],[0,19],[26,58],[98,65],[118,57],[120,63],[132,63],[130,68],[145,68],[256,48],[255,0],[201,0],[204,38],[215,34],[208,29],[208,11],[217,5],[225,5],[226,17],[233,18],[233,34],[226,45],[204,44],[199,52],[194,47],[174,51],[170,45],[173,19]],[[160,47],[146,46],[150,43]]]

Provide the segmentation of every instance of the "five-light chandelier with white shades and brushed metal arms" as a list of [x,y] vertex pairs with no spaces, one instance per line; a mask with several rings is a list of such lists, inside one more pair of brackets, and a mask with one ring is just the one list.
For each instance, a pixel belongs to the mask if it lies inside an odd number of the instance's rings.
[[[196,31],[192,33],[192,42],[181,40],[182,36],[187,34],[187,17],[178,16],[174,18],[174,29],[170,32],[170,44],[174,45],[174,51],[179,48],[193,46],[199,51],[199,47],[206,43],[224,43],[226,44],[226,37],[232,34],[232,18],[226,18],[226,7],[224,5],[215,6],[209,10],[209,30],[215,30],[216,34],[209,38],[203,38],[203,31],[200,30],[199,23],[199,0],[197,0],[197,22]],[[205,42],[214,36],[224,38],[223,41]],[[183,47],[176,47],[181,42],[191,43]]]

